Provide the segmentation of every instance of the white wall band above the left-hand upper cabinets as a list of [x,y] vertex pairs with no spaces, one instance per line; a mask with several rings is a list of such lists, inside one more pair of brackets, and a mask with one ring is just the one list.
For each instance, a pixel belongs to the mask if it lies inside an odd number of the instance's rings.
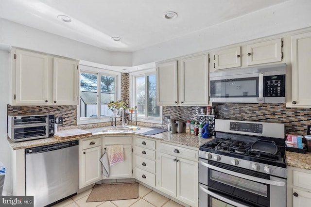
[[132,53],[114,52],[0,18],[0,43],[112,66],[132,66]]

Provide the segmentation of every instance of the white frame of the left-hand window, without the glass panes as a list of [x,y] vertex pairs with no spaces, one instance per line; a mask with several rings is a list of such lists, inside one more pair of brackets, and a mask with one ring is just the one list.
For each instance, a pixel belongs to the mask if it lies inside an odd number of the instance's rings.
[[116,71],[107,70],[104,67],[99,67],[98,64],[85,65],[81,64],[79,66],[79,98],[80,98],[80,77],[81,73],[89,73],[97,75],[97,117],[80,117],[80,101],[77,105],[77,125],[83,124],[95,124],[100,122],[111,121],[112,116],[101,116],[101,76],[110,76],[115,78],[115,101],[120,100],[121,98],[121,73]]

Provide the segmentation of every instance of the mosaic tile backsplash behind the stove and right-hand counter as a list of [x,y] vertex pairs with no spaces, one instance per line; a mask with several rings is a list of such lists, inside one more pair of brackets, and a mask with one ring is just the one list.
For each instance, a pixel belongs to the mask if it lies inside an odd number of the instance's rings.
[[[165,115],[180,121],[197,120],[202,108],[163,106],[163,124]],[[283,123],[285,133],[297,135],[306,134],[307,125],[311,125],[310,108],[286,108],[285,104],[222,103],[215,106],[215,114],[219,119]]]

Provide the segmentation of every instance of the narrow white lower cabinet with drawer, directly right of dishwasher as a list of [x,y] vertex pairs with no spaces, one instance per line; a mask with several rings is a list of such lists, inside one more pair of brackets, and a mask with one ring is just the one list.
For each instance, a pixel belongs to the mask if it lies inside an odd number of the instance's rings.
[[79,188],[86,187],[101,180],[101,143],[100,138],[80,142]]

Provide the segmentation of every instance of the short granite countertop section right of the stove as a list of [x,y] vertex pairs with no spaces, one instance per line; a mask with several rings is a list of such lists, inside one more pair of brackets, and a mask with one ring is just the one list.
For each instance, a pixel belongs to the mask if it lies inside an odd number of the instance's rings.
[[311,170],[311,152],[306,154],[297,152],[285,152],[286,163],[288,166]]

